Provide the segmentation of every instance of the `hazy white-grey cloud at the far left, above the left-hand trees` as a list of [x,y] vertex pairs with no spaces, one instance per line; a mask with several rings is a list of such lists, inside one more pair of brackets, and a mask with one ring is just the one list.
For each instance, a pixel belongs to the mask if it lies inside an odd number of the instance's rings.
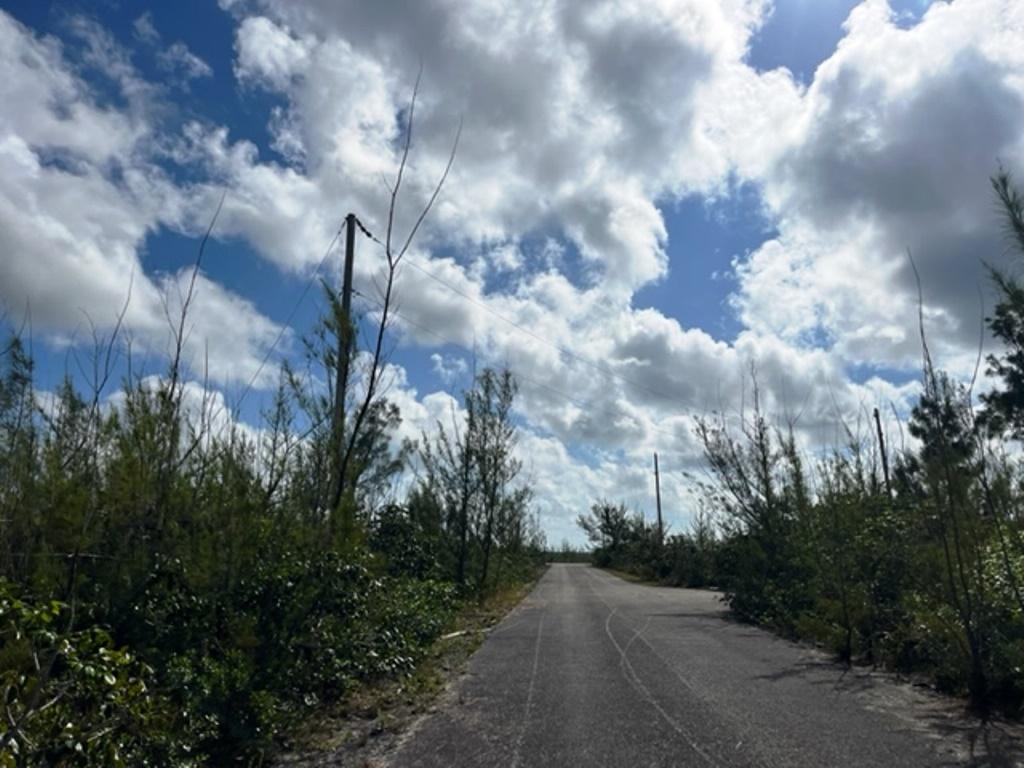
[[[197,214],[157,162],[150,91],[129,57],[94,23],[73,27],[91,66],[126,89],[124,109],[97,103],[56,40],[0,13],[0,304],[60,343],[109,332],[124,308],[135,343],[163,353],[181,275],[148,274],[140,254],[162,227],[194,232]],[[186,362],[221,382],[248,380],[279,331],[202,275],[188,330]]]

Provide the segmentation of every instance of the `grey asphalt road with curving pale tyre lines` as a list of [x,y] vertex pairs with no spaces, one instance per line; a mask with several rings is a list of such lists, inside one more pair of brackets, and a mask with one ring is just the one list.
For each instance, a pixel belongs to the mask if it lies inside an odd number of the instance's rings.
[[951,707],[731,622],[714,593],[552,565],[391,765],[1021,764]]

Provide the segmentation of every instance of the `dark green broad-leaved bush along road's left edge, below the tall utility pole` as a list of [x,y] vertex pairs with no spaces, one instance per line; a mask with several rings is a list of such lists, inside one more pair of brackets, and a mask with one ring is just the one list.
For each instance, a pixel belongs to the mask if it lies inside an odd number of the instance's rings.
[[205,647],[161,642],[175,648],[162,659],[168,684],[218,760],[265,752],[309,708],[411,671],[456,606],[451,585],[378,575],[368,555],[291,551],[261,560],[227,604],[214,630],[200,613],[176,631]]

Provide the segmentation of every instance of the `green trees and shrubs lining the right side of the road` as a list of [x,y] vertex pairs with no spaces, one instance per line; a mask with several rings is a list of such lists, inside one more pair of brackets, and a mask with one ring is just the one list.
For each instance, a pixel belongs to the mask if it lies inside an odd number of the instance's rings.
[[[1024,257],[1024,198],[993,179]],[[922,324],[920,400],[886,445],[876,411],[809,454],[761,408],[696,421],[707,471],[692,529],[663,538],[600,501],[580,524],[593,561],[666,584],[720,587],[739,617],[846,662],[929,676],[973,708],[1024,711],[1024,287],[991,270],[1002,344],[975,396],[933,360]],[[866,416],[866,414],[865,414]]]

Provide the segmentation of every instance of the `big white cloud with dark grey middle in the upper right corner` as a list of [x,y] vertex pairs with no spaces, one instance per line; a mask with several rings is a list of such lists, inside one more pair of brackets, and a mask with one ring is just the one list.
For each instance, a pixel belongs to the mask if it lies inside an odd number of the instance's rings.
[[935,4],[909,29],[885,2],[854,9],[761,176],[780,233],[737,264],[748,327],[913,366],[909,252],[940,355],[977,344],[982,260],[1005,263],[988,176],[1024,169],[1022,27],[997,1]]

